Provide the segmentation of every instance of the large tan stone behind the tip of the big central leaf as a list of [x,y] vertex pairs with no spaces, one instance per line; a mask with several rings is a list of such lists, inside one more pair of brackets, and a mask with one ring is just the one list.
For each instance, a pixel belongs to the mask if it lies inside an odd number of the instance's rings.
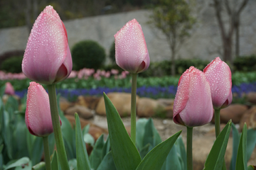
[[[131,94],[128,93],[109,93],[107,94],[110,101],[112,101],[114,107],[117,109],[119,115],[121,117],[126,117],[131,115]],[[138,102],[139,96],[136,97],[136,101]],[[106,115],[105,111],[105,102],[104,98],[100,98],[99,103],[95,109],[98,115]]]

